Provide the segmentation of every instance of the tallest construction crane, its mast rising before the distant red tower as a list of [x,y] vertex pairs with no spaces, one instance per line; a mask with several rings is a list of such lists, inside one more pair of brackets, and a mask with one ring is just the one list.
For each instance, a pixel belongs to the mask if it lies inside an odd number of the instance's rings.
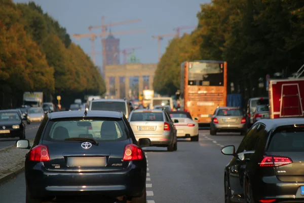
[[[123,24],[127,24],[127,23],[134,23],[134,22],[140,22],[141,19],[137,19],[137,20],[128,20],[128,21],[123,21],[123,22],[116,22],[116,23],[110,23],[110,24],[105,24],[104,23],[104,16],[102,16],[101,18],[101,25],[97,25],[97,26],[92,26],[90,25],[89,31],[91,31],[92,29],[97,29],[97,28],[101,28],[101,43],[102,43],[102,68],[104,69],[105,65],[106,65],[106,47],[105,47],[105,43],[103,43],[103,40],[106,37],[106,31],[108,27],[111,26],[115,26],[115,25],[123,25]],[[138,32],[137,32],[138,33]]]

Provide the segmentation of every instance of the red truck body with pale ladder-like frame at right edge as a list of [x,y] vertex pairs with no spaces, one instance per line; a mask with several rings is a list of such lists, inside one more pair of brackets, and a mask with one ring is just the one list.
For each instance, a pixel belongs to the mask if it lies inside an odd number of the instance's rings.
[[270,118],[304,117],[304,78],[269,80]]

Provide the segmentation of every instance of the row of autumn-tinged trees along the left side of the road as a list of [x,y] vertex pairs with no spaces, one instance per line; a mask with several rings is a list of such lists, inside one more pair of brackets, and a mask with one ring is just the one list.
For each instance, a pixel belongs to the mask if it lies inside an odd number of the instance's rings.
[[[44,91],[45,98],[103,94],[105,84],[90,57],[71,43],[66,29],[33,2],[0,0],[0,97],[2,108],[24,91]],[[14,105],[13,105],[14,106]]]

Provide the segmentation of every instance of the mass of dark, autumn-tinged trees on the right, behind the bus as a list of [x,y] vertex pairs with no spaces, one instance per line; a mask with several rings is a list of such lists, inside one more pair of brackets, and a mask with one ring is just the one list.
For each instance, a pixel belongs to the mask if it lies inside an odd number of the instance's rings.
[[156,72],[156,91],[174,94],[180,87],[181,55],[227,61],[229,83],[240,85],[245,96],[257,96],[258,78],[282,71],[288,77],[304,63],[304,1],[213,0],[201,5],[197,17],[190,39],[168,45]]

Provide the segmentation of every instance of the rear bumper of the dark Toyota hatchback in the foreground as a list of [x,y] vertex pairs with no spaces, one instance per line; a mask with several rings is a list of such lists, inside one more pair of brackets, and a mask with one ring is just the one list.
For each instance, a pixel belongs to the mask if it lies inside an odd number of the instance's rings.
[[25,180],[32,197],[53,196],[141,196],[146,181],[145,160],[130,162],[128,168],[109,172],[51,172],[42,163],[28,163]]

